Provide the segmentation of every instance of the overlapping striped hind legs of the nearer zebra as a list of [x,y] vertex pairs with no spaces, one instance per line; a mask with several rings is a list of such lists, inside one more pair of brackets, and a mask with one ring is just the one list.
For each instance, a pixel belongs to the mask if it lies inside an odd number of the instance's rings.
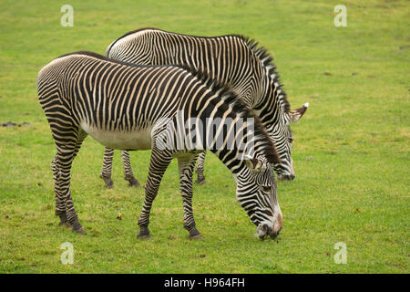
[[87,137],[82,130],[65,132],[64,140],[59,141],[55,136],[57,152],[52,162],[53,178],[55,181],[56,215],[60,217],[60,224],[72,227],[74,231],[85,234],[85,230],[78,222],[70,192],[71,165]]

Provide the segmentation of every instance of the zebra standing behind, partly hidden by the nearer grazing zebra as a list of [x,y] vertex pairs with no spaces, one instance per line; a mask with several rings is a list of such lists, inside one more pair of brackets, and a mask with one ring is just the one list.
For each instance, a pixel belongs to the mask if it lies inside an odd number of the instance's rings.
[[[182,64],[204,68],[211,78],[229,83],[245,104],[257,111],[268,129],[282,161],[274,165],[278,179],[295,178],[290,122],[300,120],[309,103],[298,110],[290,110],[272,57],[254,40],[239,35],[187,36],[158,28],[141,28],[112,42],[106,49],[106,56],[140,65]],[[100,175],[108,187],[113,184],[112,155],[113,150],[106,148]],[[205,183],[205,156],[205,151],[200,154],[196,183]],[[132,173],[129,154],[122,151],[122,157],[124,173]],[[131,183],[131,180],[137,181],[133,176],[125,177],[130,185],[138,185]]]

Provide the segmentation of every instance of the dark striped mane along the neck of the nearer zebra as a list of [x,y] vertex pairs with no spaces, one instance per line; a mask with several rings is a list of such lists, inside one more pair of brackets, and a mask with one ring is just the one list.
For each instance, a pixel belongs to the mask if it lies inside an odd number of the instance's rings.
[[281,162],[275,145],[273,144],[265,126],[263,126],[261,119],[256,112],[250,109],[243,102],[241,97],[231,89],[229,83],[223,83],[219,79],[211,78],[210,74],[202,68],[194,68],[190,65],[175,66],[188,71],[192,76],[198,78],[213,94],[217,95],[220,99],[223,99],[225,104],[231,106],[231,109],[237,114],[240,114],[241,117],[253,119],[255,136],[261,136],[264,141],[262,153],[270,163]]

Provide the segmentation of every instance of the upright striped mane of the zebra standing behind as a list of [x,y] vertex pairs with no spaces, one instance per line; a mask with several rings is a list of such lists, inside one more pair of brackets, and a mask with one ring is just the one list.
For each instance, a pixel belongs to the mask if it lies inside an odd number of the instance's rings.
[[281,105],[283,107],[284,112],[289,113],[291,110],[291,104],[287,99],[286,92],[282,89],[283,85],[280,80],[279,73],[276,71],[276,66],[273,64],[273,57],[269,53],[268,49],[265,47],[259,47],[259,43],[250,38],[249,36],[242,36],[242,35],[232,35],[241,38],[251,50],[255,53],[256,57],[261,60],[262,66],[268,70],[269,76],[273,79],[275,84],[278,84],[277,89],[281,89],[281,94],[279,95]]

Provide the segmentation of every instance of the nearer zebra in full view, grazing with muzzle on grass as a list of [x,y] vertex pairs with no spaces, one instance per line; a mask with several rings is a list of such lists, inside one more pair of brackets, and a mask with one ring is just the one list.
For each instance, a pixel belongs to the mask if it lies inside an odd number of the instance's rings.
[[[70,193],[70,169],[82,141],[90,135],[112,149],[151,149],[138,237],[149,237],[150,209],[174,157],[179,165],[184,227],[190,238],[200,237],[192,213],[192,172],[204,149],[231,170],[237,200],[257,225],[257,235],[279,234],[282,213],[271,167],[280,162],[278,154],[261,122],[227,86],[193,69],[137,66],[76,52],[42,68],[37,89],[56,143],[52,170],[60,225],[85,233]],[[192,128],[202,129],[203,135],[179,130],[191,120]]]

